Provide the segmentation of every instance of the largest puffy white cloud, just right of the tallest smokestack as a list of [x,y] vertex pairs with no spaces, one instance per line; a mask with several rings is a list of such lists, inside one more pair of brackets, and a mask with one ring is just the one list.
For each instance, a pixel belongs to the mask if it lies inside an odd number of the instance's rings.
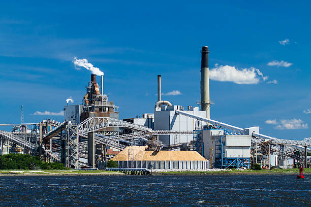
[[235,66],[218,65],[209,71],[209,79],[215,81],[228,81],[236,84],[258,84],[260,78],[267,80],[267,76],[254,67],[238,69]]

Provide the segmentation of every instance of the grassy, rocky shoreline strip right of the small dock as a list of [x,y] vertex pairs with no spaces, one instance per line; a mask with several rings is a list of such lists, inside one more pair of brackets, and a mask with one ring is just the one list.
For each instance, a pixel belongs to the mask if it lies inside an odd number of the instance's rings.
[[[152,172],[153,175],[240,175],[240,174],[298,174],[299,168],[293,169],[271,169],[271,170],[222,170],[222,171],[168,171]],[[311,168],[304,168],[304,174],[311,174]]]

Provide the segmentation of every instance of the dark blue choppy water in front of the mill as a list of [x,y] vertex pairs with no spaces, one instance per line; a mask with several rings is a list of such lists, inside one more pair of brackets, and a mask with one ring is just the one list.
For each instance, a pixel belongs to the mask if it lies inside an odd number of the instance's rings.
[[311,175],[0,177],[1,206],[311,206]]

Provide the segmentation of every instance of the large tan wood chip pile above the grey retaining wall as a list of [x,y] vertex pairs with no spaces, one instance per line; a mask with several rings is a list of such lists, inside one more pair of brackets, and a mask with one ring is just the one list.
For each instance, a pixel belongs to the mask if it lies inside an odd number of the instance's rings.
[[145,151],[147,146],[144,147],[127,147],[122,150],[118,155],[116,155],[112,160],[115,161],[128,161],[129,159],[129,150],[133,149],[134,160],[206,160],[196,151],[160,151],[156,155],[152,155],[154,151]]

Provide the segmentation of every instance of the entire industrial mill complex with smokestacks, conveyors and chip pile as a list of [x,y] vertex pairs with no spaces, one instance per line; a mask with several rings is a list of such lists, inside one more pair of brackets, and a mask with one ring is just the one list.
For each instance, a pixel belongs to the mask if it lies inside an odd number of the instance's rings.
[[276,139],[261,134],[258,126],[240,128],[211,119],[217,112],[210,114],[208,56],[208,47],[202,47],[199,106],[195,101],[193,106],[181,106],[162,100],[162,78],[167,79],[158,75],[153,114],[141,112],[141,117],[120,120],[118,107],[104,94],[104,76],[91,74],[85,78],[83,103],[65,106],[63,122],[9,124],[11,131],[0,131],[0,152],[38,155],[76,169],[105,168],[110,159],[118,168],[171,170],[250,168],[254,163],[309,166],[309,139]]

